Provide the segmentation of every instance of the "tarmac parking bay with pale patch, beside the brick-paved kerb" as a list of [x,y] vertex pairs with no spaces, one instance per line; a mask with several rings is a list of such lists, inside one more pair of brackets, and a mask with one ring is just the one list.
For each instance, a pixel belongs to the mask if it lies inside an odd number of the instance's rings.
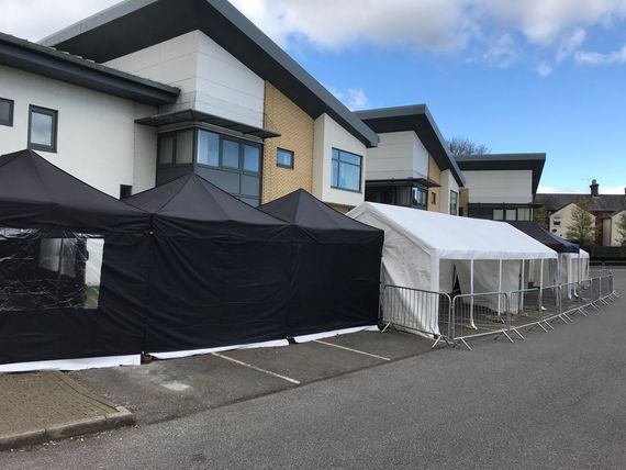
[[71,377],[132,410],[139,424],[187,416],[292,387],[211,355],[81,370]]

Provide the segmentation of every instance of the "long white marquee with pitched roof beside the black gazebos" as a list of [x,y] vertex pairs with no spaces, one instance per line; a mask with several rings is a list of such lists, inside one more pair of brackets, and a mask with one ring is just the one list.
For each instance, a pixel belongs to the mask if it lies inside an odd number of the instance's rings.
[[[551,248],[501,222],[372,202],[348,216],[384,231],[384,284],[449,293],[458,280],[461,293],[508,292],[521,288],[522,260],[557,257]],[[428,324],[422,328],[438,334],[437,315],[432,313],[424,314]]]

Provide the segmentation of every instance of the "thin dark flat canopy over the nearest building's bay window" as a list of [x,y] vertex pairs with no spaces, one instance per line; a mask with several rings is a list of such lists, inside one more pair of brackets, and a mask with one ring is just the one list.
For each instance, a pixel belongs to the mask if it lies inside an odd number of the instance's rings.
[[244,135],[249,135],[264,139],[280,137],[280,134],[272,131],[267,131],[265,128],[255,127],[248,124],[243,124],[237,121],[232,121],[213,114],[203,113],[197,110],[185,110],[167,114],[156,114],[154,116],[138,119],[135,122],[137,124],[149,125],[152,127],[161,127],[165,125],[181,124],[183,122],[202,122],[204,124],[214,125],[228,131],[238,132]]

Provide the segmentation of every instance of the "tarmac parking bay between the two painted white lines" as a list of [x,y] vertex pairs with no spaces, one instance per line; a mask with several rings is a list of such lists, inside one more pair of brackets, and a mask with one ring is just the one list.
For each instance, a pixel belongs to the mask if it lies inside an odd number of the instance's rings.
[[302,383],[384,362],[381,359],[315,342],[290,345],[286,348],[239,349],[222,354]]

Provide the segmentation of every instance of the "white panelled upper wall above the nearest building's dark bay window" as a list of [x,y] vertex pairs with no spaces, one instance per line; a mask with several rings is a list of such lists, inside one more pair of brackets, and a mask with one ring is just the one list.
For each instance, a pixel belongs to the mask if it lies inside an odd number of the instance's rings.
[[265,81],[200,31],[115,58],[108,66],[178,87],[175,105],[262,127]]

